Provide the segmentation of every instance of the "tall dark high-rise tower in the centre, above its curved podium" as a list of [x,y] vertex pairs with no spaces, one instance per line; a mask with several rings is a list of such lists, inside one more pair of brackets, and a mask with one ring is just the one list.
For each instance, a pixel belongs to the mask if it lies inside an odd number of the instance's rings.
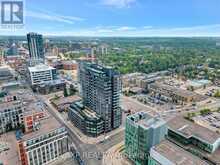
[[121,125],[122,111],[119,105],[121,76],[111,68],[81,62],[79,64],[80,94],[84,106],[95,111],[105,121],[105,131]]

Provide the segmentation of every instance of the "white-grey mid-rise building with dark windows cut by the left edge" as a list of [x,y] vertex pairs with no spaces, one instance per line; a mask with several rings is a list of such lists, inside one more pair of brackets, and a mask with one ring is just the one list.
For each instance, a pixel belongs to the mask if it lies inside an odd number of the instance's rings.
[[16,99],[0,103],[0,134],[23,125],[23,106]]

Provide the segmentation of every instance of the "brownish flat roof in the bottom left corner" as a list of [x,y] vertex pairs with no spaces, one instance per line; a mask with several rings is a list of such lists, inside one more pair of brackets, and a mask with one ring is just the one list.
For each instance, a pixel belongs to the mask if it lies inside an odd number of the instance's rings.
[[[2,151],[6,149],[5,151]],[[4,165],[20,165],[18,146],[15,132],[8,132],[0,136],[0,162]]]

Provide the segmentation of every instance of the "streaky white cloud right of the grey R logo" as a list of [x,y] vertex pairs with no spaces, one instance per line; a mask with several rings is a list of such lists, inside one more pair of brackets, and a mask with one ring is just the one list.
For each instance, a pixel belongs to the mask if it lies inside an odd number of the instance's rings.
[[80,17],[59,15],[59,14],[54,14],[54,13],[45,12],[45,11],[26,11],[25,15],[26,17],[43,19],[43,20],[54,21],[54,22],[62,22],[62,23],[67,23],[67,24],[74,24],[76,21],[85,20]]

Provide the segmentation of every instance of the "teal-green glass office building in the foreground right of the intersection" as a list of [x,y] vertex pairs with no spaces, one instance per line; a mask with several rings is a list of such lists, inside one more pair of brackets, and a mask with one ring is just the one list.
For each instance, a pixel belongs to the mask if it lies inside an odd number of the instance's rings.
[[166,122],[146,112],[128,116],[125,129],[125,153],[136,164],[147,164],[151,147],[167,135]]

